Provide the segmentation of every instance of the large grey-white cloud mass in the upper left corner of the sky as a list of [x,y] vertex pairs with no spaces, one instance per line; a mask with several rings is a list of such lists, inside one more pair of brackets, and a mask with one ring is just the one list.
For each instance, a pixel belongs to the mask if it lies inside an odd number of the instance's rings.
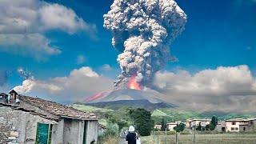
[[61,50],[52,46],[44,35],[46,30],[62,30],[68,34],[83,30],[92,34],[96,27],[84,22],[74,10],[59,4],[39,0],[0,2],[0,51],[35,57],[60,54]]

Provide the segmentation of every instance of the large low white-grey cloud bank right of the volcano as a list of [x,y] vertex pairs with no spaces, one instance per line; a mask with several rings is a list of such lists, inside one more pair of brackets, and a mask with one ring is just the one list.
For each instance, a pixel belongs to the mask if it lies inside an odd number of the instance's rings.
[[256,80],[244,65],[220,66],[194,75],[185,70],[177,74],[158,72],[154,85],[168,96],[168,101],[196,110],[253,110],[250,106],[256,103]]

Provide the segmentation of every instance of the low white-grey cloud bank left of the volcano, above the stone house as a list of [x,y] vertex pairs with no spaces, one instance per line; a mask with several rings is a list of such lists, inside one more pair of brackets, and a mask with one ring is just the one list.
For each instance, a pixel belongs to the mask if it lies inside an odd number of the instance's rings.
[[[30,80],[29,80],[30,81]],[[28,84],[30,83],[30,84]],[[35,92],[37,94],[54,96],[58,102],[63,100],[75,101],[97,94],[113,87],[113,80],[97,74],[90,67],[81,67],[70,71],[66,77],[56,77],[47,80],[28,80],[17,86],[19,93]]]

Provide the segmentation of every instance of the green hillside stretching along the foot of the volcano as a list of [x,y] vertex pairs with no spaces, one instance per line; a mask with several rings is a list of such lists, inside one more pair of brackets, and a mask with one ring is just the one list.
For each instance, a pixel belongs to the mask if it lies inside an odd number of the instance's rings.
[[[138,108],[123,105],[96,107],[96,106],[86,106],[80,104],[71,105],[75,109],[94,112],[98,114],[99,118],[115,118],[122,119],[123,121],[129,121],[128,109]],[[179,120],[186,120],[188,118],[212,118],[213,115],[218,116],[219,120],[230,119],[230,118],[249,118],[256,117],[256,114],[238,114],[238,113],[221,113],[221,112],[204,112],[199,113],[193,110],[183,110],[180,108],[158,108],[151,110],[152,119],[154,119],[155,124],[160,124],[162,118],[166,122],[175,122]]]

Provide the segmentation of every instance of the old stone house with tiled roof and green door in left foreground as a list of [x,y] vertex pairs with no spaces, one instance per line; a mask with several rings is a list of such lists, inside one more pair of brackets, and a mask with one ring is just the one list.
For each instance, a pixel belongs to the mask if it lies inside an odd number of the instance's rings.
[[98,118],[41,98],[0,94],[0,143],[90,144],[98,141]]

